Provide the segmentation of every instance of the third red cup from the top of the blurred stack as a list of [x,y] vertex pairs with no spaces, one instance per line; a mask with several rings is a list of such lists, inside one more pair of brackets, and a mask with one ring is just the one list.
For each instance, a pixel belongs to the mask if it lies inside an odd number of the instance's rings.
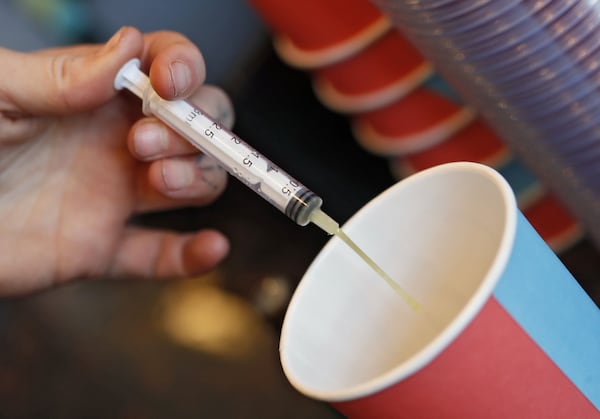
[[474,117],[470,108],[422,87],[388,106],[357,115],[352,125],[365,149],[397,156],[447,140]]

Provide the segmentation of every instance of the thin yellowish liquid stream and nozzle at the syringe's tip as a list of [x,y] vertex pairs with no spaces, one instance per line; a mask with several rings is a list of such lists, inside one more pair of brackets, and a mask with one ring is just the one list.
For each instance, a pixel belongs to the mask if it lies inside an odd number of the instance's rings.
[[381,267],[375,263],[373,259],[369,257],[348,235],[340,228],[339,224],[332,219],[330,216],[325,214],[320,209],[317,209],[310,214],[310,221],[319,226],[322,230],[328,234],[336,235],[346,245],[354,251],[377,275],[379,275],[385,282],[388,283],[394,291],[396,291],[404,301],[415,311],[420,310],[421,306],[419,303],[408,294],[396,281],[394,281]]

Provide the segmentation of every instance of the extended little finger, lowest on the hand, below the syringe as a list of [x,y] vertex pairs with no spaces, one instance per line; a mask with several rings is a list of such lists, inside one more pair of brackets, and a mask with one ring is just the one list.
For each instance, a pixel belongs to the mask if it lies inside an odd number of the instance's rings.
[[212,270],[229,252],[221,233],[195,234],[131,227],[123,237],[110,272],[111,277],[175,278]]

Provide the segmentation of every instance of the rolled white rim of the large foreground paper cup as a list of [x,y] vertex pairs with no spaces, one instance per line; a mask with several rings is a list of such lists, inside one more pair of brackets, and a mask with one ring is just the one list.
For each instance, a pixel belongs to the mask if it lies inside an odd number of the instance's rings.
[[518,209],[516,198],[508,182],[495,169],[480,163],[452,162],[423,170],[396,183],[373,198],[364,207],[357,211],[356,214],[354,214],[342,227],[348,228],[352,224],[358,222],[357,220],[365,216],[366,213],[370,212],[372,207],[377,206],[380,201],[384,200],[390,194],[400,193],[399,191],[412,186],[414,183],[422,182],[428,177],[444,176],[449,172],[456,171],[471,172],[474,175],[491,179],[493,184],[498,188],[498,191],[500,192],[504,202],[505,225],[499,240],[498,251],[477,289],[473,292],[472,296],[465,303],[463,308],[455,315],[454,319],[452,319],[444,328],[444,330],[442,330],[436,337],[429,341],[420,351],[413,354],[407,360],[396,365],[394,368],[391,368],[387,372],[372,377],[371,379],[368,379],[357,385],[327,391],[313,389],[310,387],[310,385],[300,382],[294,378],[292,368],[288,365],[285,357],[286,340],[288,339],[288,335],[290,333],[289,330],[291,327],[291,319],[294,316],[294,313],[298,310],[303,291],[306,287],[307,280],[305,278],[311,274],[312,270],[316,269],[321,259],[327,257],[328,253],[333,250],[336,244],[333,242],[332,238],[315,257],[298,284],[288,305],[281,328],[279,344],[281,365],[287,379],[299,392],[318,400],[327,402],[340,402],[362,398],[385,388],[391,387],[395,383],[424,368],[435,357],[442,353],[461,334],[461,332],[466,329],[470,322],[476,317],[477,313],[483,308],[489,297],[492,295],[492,292],[502,277],[504,269],[508,263],[517,228]]

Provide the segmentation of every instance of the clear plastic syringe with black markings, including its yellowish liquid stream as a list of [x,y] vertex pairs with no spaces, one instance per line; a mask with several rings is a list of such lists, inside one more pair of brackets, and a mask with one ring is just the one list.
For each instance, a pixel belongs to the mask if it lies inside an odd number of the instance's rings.
[[144,114],[157,117],[200,151],[216,159],[231,175],[297,224],[304,226],[312,222],[328,234],[340,237],[414,309],[418,309],[418,303],[321,210],[323,200],[319,196],[199,108],[184,100],[161,98],[152,88],[148,76],[140,70],[138,59],[130,60],[121,68],[114,85],[118,90],[125,88],[133,92],[142,99]]

